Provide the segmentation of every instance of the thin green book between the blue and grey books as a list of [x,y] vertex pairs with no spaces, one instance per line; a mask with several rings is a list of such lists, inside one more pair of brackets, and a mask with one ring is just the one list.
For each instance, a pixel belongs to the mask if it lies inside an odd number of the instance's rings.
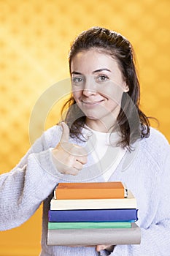
[[49,230],[81,228],[131,228],[131,222],[48,222]]

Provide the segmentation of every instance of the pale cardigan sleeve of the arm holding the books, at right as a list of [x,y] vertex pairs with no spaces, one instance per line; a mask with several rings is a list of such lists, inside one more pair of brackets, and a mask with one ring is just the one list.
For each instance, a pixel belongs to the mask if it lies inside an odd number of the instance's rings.
[[161,256],[170,252],[170,150],[162,168],[158,186],[159,200],[152,224],[141,227],[142,241],[137,245],[117,245],[111,255],[116,256]]

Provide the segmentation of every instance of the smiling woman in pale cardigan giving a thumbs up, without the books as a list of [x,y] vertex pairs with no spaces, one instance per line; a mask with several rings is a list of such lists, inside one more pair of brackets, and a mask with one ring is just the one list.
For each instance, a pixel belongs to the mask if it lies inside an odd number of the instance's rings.
[[[20,164],[1,176],[6,209],[1,230],[26,221],[44,201],[42,256],[93,256],[101,249],[110,255],[168,255],[169,143],[150,128],[139,109],[139,80],[130,42],[104,28],[83,31],[72,44],[69,68],[72,97],[65,105],[69,110],[64,122],[48,129]],[[47,246],[50,194],[62,181],[123,181],[137,200],[141,244]],[[13,200],[8,206],[11,187]]]

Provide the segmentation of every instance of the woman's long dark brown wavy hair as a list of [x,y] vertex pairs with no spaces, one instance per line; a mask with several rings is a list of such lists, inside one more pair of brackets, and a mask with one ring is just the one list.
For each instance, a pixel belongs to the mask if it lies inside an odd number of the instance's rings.
[[[117,126],[120,130],[119,145],[131,148],[132,143],[150,135],[149,118],[139,108],[140,87],[135,67],[134,50],[131,43],[116,31],[93,27],[82,33],[72,42],[69,52],[69,70],[73,57],[80,51],[96,48],[112,56],[117,61],[129,91],[123,92],[120,113],[117,116]],[[68,124],[72,138],[82,138],[82,127],[85,125],[85,114],[77,106],[74,97],[63,105],[62,114],[66,110],[63,121]]]

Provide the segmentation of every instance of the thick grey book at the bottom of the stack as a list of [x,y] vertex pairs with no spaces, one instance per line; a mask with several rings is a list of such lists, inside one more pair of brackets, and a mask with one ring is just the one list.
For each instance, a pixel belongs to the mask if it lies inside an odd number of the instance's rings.
[[140,244],[141,230],[131,228],[48,230],[47,244],[61,246],[95,246],[96,244]]

